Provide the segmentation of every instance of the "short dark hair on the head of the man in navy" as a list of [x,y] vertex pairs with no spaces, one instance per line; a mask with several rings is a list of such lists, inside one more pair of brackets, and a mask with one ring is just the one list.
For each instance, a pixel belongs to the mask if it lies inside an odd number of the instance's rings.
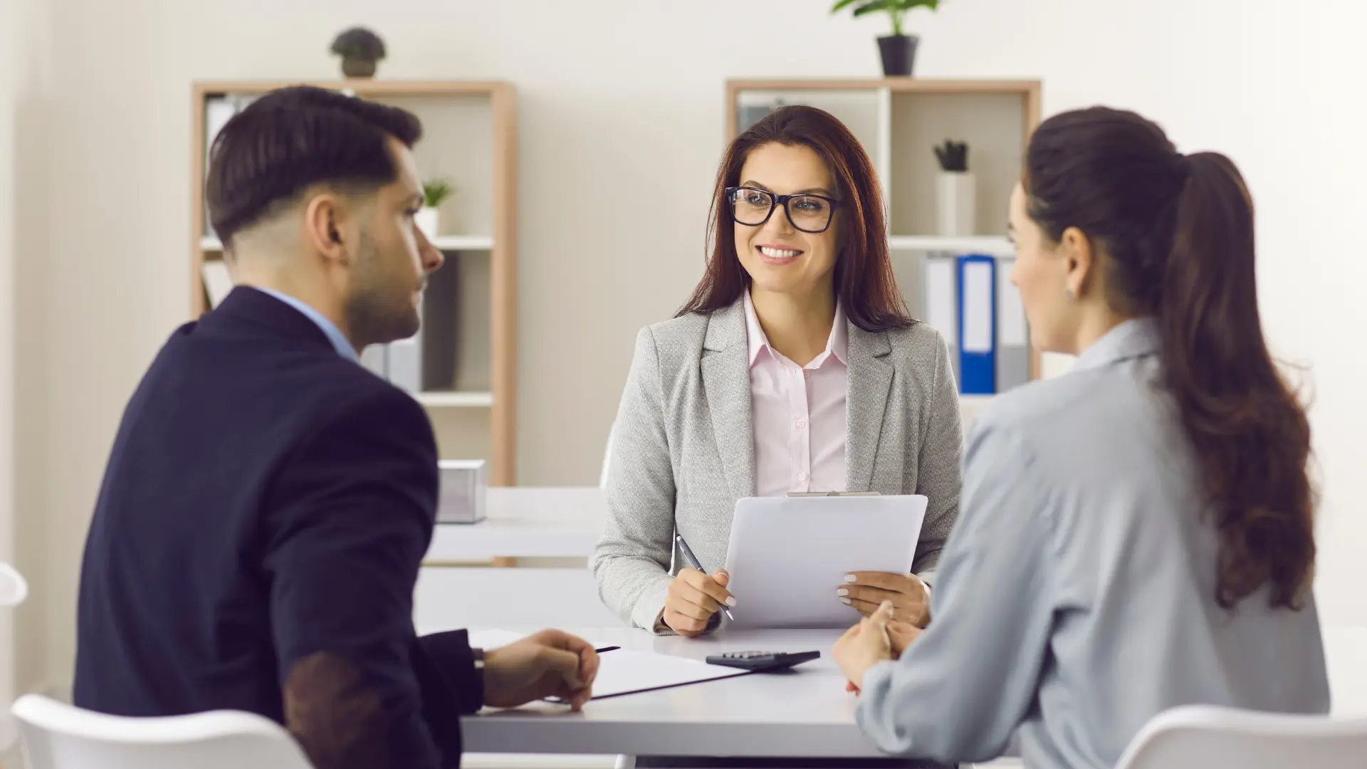
[[213,141],[205,200],[209,223],[232,235],[314,185],[369,192],[398,175],[390,137],[413,146],[411,112],[314,86],[272,90],[232,116]]

